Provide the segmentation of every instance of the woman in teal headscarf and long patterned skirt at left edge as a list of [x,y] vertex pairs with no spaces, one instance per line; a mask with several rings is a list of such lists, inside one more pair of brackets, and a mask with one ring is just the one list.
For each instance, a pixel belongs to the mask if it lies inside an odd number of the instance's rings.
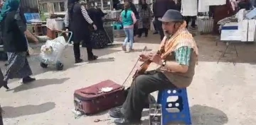
[[7,81],[12,78],[23,78],[23,83],[35,81],[31,78],[31,68],[26,59],[28,44],[24,32],[26,32],[26,20],[18,13],[20,1],[7,0],[1,9],[0,22],[4,40],[4,50],[8,56],[8,66],[4,73],[4,82],[1,85],[9,89]]

